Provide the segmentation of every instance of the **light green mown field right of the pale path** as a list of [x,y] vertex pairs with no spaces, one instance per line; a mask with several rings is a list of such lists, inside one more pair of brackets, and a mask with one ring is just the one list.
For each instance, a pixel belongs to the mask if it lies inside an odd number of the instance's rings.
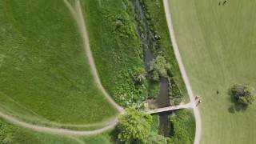
[[[256,143],[256,105],[231,110],[234,83],[256,87],[256,2],[170,1],[174,29],[194,94],[202,96],[202,144]],[[220,94],[216,94],[216,90]]]

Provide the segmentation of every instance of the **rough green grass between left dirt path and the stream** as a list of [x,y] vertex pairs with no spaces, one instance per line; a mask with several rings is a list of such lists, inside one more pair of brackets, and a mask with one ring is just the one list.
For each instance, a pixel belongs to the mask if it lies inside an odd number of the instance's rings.
[[[146,88],[134,85],[134,67],[143,67],[142,48],[127,0],[84,0],[90,47],[103,86],[116,102],[127,106],[146,97]],[[129,12],[130,11],[130,12]]]

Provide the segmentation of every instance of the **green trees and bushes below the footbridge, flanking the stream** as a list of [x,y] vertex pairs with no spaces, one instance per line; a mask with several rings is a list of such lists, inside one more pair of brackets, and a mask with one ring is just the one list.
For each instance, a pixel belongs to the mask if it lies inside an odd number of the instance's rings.
[[194,116],[189,110],[178,110],[170,115],[170,137],[164,137],[158,131],[158,115],[150,116],[135,109],[127,109],[120,116],[118,139],[122,143],[149,144],[192,144],[194,142]]

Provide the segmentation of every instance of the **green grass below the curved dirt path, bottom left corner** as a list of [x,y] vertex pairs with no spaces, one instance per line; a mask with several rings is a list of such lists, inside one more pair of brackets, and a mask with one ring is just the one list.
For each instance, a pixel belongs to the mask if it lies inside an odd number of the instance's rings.
[[[23,129],[0,120],[0,143],[7,142],[16,144],[98,144],[114,143],[110,133],[96,136],[66,137],[55,134],[43,134]],[[7,143],[8,143],[7,142]]]

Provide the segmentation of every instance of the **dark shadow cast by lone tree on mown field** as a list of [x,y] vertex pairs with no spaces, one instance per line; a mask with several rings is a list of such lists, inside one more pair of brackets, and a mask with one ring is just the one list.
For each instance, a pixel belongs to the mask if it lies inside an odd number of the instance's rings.
[[231,90],[228,90],[228,94],[230,95],[229,100],[231,102],[231,106],[228,108],[228,111],[231,114],[234,114],[235,112],[243,112],[248,108],[248,105],[239,103],[238,100],[234,98]]

